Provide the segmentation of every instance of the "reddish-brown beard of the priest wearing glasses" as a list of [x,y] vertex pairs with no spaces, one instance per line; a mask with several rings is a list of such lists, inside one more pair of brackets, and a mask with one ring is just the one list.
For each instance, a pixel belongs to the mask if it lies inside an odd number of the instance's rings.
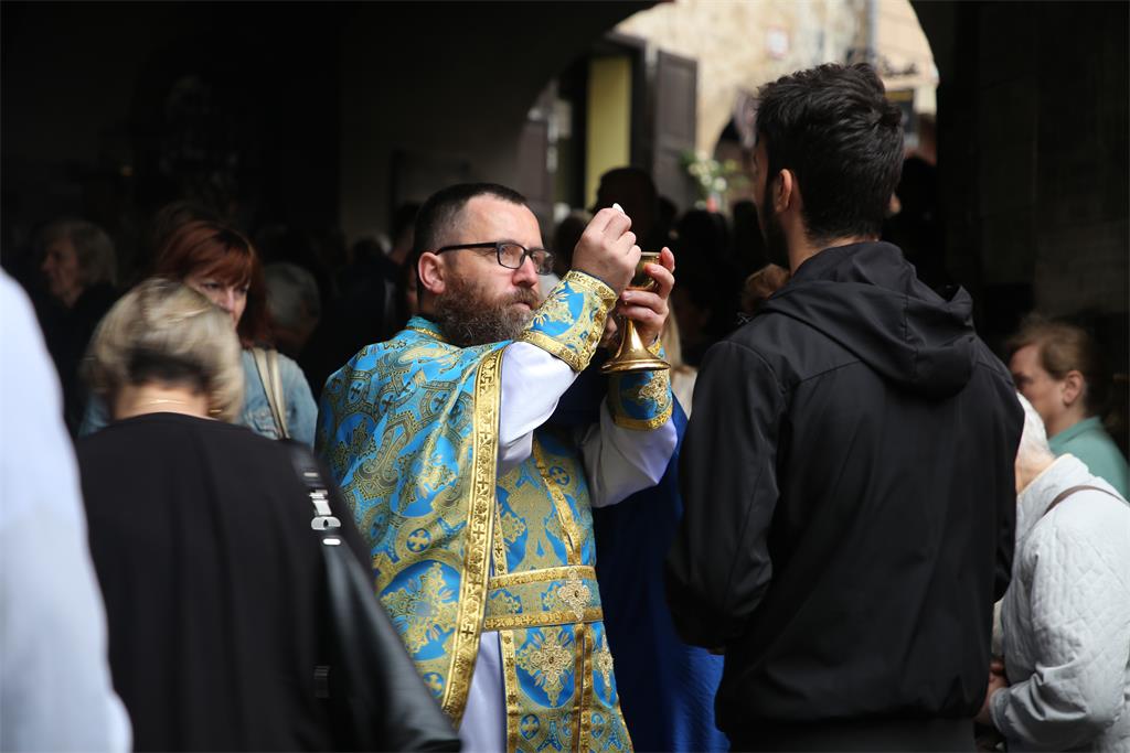
[[436,298],[436,324],[447,342],[460,348],[514,340],[533,316],[532,310],[514,304],[527,304],[532,309],[538,305],[538,294],[533,288],[519,288],[492,300],[484,286],[454,277]]

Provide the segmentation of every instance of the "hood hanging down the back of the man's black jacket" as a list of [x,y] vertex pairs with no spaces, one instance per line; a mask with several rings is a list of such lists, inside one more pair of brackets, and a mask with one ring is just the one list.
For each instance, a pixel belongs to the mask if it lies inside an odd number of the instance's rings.
[[946,300],[919,281],[902,251],[859,243],[822,251],[758,312],[818,330],[904,389],[941,399],[973,374],[973,301]]

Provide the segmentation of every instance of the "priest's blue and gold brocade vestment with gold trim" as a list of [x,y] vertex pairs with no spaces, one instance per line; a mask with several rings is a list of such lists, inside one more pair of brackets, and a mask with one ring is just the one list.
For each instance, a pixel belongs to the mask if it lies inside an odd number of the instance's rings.
[[[570,272],[520,340],[581,370],[615,301]],[[376,593],[457,726],[479,637],[497,631],[508,750],[631,750],[576,445],[539,429],[530,457],[497,475],[507,344],[457,348],[412,318],[330,377],[318,447],[370,543]],[[661,426],[667,374],[614,377],[608,410],[620,426]]]

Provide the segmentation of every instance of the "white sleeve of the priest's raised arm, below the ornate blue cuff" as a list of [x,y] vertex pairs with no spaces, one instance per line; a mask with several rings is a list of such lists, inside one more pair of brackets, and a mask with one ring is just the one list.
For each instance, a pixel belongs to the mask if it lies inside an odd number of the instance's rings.
[[549,420],[575,378],[568,364],[537,345],[514,342],[506,347],[498,405],[498,475],[530,456],[533,430]]

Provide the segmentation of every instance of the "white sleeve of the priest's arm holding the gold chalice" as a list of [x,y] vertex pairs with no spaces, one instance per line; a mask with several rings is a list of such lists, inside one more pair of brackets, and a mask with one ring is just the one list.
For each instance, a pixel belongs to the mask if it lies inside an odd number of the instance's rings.
[[673,420],[647,431],[625,429],[601,401],[600,424],[589,427],[581,440],[592,506],[615,505],[659,483],[678,440]]

